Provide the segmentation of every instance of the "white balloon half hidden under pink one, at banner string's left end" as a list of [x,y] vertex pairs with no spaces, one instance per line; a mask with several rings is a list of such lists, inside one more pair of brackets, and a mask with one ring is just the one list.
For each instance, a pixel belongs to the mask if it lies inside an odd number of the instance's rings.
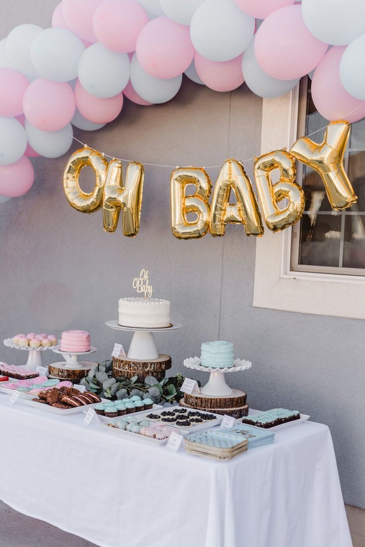
[[66,125],[60,131],[42,131],[25,120],[25,132],[33,150],[45,158],[63,156],[72,144],[71,124]]

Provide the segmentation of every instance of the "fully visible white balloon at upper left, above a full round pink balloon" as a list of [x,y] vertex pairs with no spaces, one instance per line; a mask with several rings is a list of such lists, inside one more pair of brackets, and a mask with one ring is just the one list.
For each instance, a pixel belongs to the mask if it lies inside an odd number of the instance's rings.
[[47,28],[32,42],[31,57],[36,70],[54,82],[77,78],[77,67],[85,51],[82,40],[66,28]]

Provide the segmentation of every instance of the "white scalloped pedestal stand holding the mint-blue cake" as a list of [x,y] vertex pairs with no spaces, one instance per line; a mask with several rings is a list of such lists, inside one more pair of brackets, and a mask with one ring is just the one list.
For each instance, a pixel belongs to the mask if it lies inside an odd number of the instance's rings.
[[210,377],[208,382],[203,386],[200,391],[204,395],[211,395],[213,397],[229,397],[229,395],[236,395],[241,393],[237,389],[231,389],[225,382],[225,374],[237,373],[242,370],[248,370],[252,364],[250,361],[243,359],[235,359],[234,366],[229,368],[217,369],[211,366],[202,366],[199,357],[190,357],[184,360],[184,366],[188,369],[201,370],[205,373],[209,372]]

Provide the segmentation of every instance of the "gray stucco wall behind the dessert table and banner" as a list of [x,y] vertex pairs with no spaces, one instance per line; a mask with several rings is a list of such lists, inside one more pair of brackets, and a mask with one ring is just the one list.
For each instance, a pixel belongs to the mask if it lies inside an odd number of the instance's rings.
[[[1,37],[22,22],[49,26],[56,4],[2,0]],[[219,94],[186,80],[175,100],[148,108],[126,101],[117,121],[76,135],[101,152],[142,162],[218,165],[259,154],[261,114],[261,100],[245,86]],[[169,299],[173,319],[184,325],[156,336],[173,358],[172,373],[185,372],[183,358],[199,354],[202,341],[234,342],[236,355],[253,366],[230,383],[247,391],[252,408],[285,406],[328,424],[345,501],[365,507],[363,321],[253,308],[256,241],[240,226],[228,226],[223,238],[176,240],[169,168],[146,166],[136,238],[124,237],[120,226],[103,232],[101,211],[83,215],[65,200],[67,158],[35,160],[32,190],[0,206],[0,335],[86,329],[96,359],[108,358],[114,342],[128,347],[131,336],[104,322],[117,317],[118,298],[133,294],[132,277],[146,267],[154,296]],[[214,181],[218,169],[209,172]],[[24,357],[4,347],[0,353],[8,363]]]

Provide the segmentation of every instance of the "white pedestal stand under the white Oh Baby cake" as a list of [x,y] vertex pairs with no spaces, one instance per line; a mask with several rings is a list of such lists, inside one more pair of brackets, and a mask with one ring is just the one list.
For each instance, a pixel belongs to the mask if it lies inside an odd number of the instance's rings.
[[170,330],[176,330],[182,327],[182,324],[180,323],[172,323],[171,327],[163,327],[160,329],[122,327],[121,325],[118,325],[118,319],[107,321],[105,324],[115,330],[125,330],[127,332],[134,333],[127,357],[129,359],[136,360],[158,359],[159,353],[157,351],[153,333],[167,333]]

